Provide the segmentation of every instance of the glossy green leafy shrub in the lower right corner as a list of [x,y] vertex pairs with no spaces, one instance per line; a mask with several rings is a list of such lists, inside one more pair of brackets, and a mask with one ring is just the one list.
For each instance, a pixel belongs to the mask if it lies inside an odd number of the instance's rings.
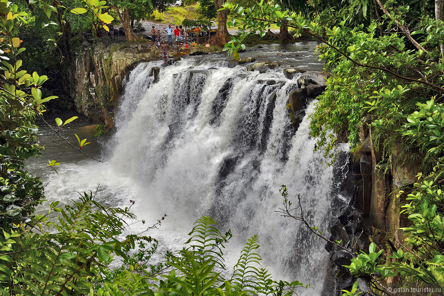
[[[442,164],[438,165],[442,166]],[[350,269],[356,277],[372,277],[381,279],[401,276],[405,282],[419,282],[440,288],[444,283],[444,191],[436,182],[439,167],[434,168],[429,176],[418,180],[411,193],[407,194],[407,202],[402,206],[410,220],[409,227],[401,228],[404,232],[405,245],[394,250],[386,260],[381,256],[384,250],[376,252],[372,243],[369,253],[361,251],[352,259]],[[400,191],[400,198],[404,191]]]

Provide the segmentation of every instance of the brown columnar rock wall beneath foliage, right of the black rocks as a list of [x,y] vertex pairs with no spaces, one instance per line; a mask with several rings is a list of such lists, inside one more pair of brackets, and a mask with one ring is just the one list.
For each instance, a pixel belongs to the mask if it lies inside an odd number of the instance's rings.
[[[352,250],[353,254],[359,253],[359,250],[368,253],[368,245],[375,242],[390,255],[387,240],[390,240],[392,248],[401,248],[404,236],[399,228],[407,227],[409,223],[400,214],[401,206],[406,203],[406,196],[399,195],[398,192],[416,181],[420,163],[411,161],[416,158],[406,156],[405,152],[401,157],[396,149],[389,158],[383,159],[382,143],[372,139],[371,127],[363,125],[360,138],[362,156],[356,161],[359,169],[354,172],[360,181],[356,184],[349,207],[333,221],[330,240],[347,242],[344,246]],[[327,244],[326,249],[330,253],[331,269],[335,272],[334,294],[340,295],[341,289],[350,290],[356,281],[348,269],[342,266],[350,265],[353,256],[331,243]],[[396,278],[388,278],[387,284],[395,280]],[[366,285],[365,281],[360,282],[358,291],[367,291]],[[372,292],[369,294],[374,295]]]

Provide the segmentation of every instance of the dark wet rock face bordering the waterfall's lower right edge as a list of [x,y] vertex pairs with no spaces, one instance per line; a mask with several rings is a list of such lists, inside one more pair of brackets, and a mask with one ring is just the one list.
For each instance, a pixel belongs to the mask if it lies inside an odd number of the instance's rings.
[[[339,182],[336,182],[333,187],[332,193],[336,198],[331,208],[333,213],[341,214],[332,221],[329,239],[340,241],[340,245],[351,252],[330,242],[326,243],[325,249],[330,253],[330,266],[328,266],[329,273],[321,293],[323,296],[342,295],[341,290],[351,290],[356,281],[359,282],[358,291],[362,291],[365,295],[375,295],[366,279],[355,278],[348,268],[343,266],[350,265],[353,254],[359,253],[359,250],[368,252],[370,244],[368,237],[373,230],[363,222],[365,214],[362,208],[362,186],[363,178],[365,178],[363,175],[367,173],[371,176],[371,163],[371,156],[363,155],[360,161],[356,161],[351,154],[343,152],[338,155],[333,167],[333,178]],[[352,196],[352,199],[345,204],[339,196]],[[378,239],[378,236],[374,237],[375,241]]]

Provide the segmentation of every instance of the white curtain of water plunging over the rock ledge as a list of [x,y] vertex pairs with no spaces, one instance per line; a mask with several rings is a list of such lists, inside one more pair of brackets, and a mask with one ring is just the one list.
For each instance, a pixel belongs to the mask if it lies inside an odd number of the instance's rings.
[[182,61],[162,68],[153,83],[153,65],[129,76],[111,160],[143,184],[137,212],[166,213],[173,232],[211,215],[232,229],[236,244],[258,234],[277,276],[322,283],[324,242],[275,212],[286,184],[293,199],[301,195],[313,225],[330,217],[332,169],[313,153],[308,122],[294,132],[286,109],[296,80]]

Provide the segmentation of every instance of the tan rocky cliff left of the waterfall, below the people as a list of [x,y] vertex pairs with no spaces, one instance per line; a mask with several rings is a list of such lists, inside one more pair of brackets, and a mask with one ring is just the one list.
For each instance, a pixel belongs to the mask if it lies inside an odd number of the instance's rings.
[[[219,47],[169,48],[168,57],[220,52]],[[114,110],[119,104],[119,93],[127,74],[141,62],[161,60],[160,51],[151,42],[116,43],[109,38],[84,41],[76,53],[75,79],[70,86],[70,96],[80,114],[105,129],[113,128]],[[156,72],[153,71],[153,75]]]

